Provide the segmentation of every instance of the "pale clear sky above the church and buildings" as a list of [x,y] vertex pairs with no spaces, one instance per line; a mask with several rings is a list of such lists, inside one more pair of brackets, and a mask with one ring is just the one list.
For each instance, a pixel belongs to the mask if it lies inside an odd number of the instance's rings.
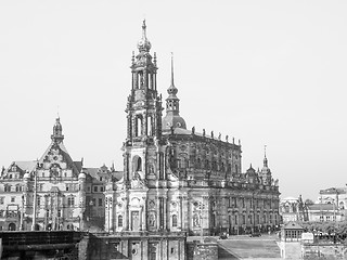
[[282,197],[346,180],[346,1],[0,1],[0,166],[39,158],[57,110],[86,167],[123,170],[131,52],[145,17],[188,128],[241,139]]

